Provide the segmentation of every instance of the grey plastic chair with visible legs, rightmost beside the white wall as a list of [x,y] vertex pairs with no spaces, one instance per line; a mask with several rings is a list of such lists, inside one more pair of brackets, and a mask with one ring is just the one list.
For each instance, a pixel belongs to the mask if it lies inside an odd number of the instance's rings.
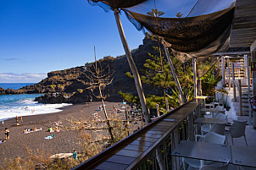
[[233,138],[240,138],[243,136],[245,140],[245,144],[246,146],[248,146],[248,142],[245,136],[245,129],[246,129],[247,122],[248,121],[234,120],[234,123],[232,123],[231,128],[227,132],[227,134],[231,134],[232,145],[234,145]]

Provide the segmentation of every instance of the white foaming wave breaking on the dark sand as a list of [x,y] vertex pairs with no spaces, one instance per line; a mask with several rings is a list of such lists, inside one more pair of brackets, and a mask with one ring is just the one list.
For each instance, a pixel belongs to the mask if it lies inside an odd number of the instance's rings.
[[60,108],[67,107],[72,104],[62,103],[62,104],[40,104],[32,100],[23,100],[23,104],[0,108],[0,121],[6,120],[8,118],[15,118],[16,116],[31,116],[36,114],[47,114],[53,112],[61,112]]

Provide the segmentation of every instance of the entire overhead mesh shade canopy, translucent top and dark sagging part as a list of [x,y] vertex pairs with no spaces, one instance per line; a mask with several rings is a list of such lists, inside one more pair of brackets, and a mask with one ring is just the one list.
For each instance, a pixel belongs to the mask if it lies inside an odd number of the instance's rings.
[[208,57],[228,47],[234,0],[89,0],[125,11],[137,30],[159,36],[176,58]]

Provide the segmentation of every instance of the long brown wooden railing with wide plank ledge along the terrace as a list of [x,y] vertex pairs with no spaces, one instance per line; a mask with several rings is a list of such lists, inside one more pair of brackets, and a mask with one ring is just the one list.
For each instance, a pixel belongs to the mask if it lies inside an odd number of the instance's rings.
[[73,169],[181,169],[170,153],[181,140],[194,140],[203,104],[188,101]]

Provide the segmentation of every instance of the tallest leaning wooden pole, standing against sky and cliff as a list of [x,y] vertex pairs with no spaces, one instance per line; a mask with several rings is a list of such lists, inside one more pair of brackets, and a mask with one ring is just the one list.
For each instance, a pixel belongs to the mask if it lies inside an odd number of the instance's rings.
[[126,55],[126,58],[127,58],[128,63],[130,65],[130,68],[131,68],[131,72],[132,72],[133,77],[134,77],[136,90],[137,90],[137,93],[138,93],[138,96],[140,98],[141,105],[142,105],[142,112],[144,114],[145,121],[148,124],[148,123],[151,122],[151,119],[150,119],[150,116],[149,116],[148,110],[147,110],[147,103],[146,103],[146,98],[145,98],[145,95],[144,95],[144,91],[142,89],[142,82],[141,82],[140,74],[139,74],[138,70],[136,69],[136,65],[135,65],[135,63],[133,61],[133,58],[131,56],[131,52],[130,52],[130,49],[128,47],[128,43],[127,43],[126,38],[125,38],[125,32],[124,32],[123,26],[121,24],[120,14],[119,14],[118,9],[114,9],[114,17],[115,17],[116,25],[117,25],[119,33],[120,33],[120,38],[121,38],[121,41],[123,43],[123,47],[125,49],[125,55]]

